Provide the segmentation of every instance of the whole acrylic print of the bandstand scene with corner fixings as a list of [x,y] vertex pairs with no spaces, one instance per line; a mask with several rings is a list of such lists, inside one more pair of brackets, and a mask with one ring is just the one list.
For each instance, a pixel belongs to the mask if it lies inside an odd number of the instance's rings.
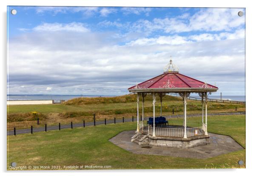
[[8,6],[7,26],[8,170],[245,168],[245,8]]

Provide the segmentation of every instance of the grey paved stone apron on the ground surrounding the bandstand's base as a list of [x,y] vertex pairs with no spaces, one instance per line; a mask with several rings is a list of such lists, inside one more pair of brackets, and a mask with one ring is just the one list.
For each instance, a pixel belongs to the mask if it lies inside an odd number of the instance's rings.
[[193,148],[167,148],[152,146],[150,148],[142,148],[138,144],[131,142],[131,137],[134,134],[134,130],[124,131],[111,138],[109,141],[134,154],[152,154],[197,159],[206,159],[243,149],[243,147],[231,137],[216,135],[213,133],[208,133],[210,135],[209,144],[205,146]]

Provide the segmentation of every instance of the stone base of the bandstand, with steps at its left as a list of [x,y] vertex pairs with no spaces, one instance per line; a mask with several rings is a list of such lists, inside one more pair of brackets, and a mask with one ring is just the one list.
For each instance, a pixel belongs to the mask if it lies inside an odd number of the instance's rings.
[[153,137],[142,132],[135,134],[131,142],[137,143],[139,146],[157,146],[170,148],[192,148],[197,146],[204,146],[209,143],[210,135],[198,135],[193,137]]

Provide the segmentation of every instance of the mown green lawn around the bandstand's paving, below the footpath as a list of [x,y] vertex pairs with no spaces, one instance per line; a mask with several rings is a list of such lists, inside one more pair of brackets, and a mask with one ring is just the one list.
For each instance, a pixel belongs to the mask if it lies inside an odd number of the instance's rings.
[[[193,117],[188,121],[200,119]],[[7,164],[110,165],[111,169],[245,167],[237,164],[240,159],[245,162],[245,149],[209,159],[188,159],[132,154],[108,141],[119,132],[131,129],[136,129],[135,122],[7,136]],[[209,116],[208,131],[230,135],[245,147],[245,115]]]

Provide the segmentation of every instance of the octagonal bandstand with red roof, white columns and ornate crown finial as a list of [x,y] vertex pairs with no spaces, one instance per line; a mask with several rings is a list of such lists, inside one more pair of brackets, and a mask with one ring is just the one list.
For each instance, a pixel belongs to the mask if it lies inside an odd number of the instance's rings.
[[[208,143],[207,99],[216,86],[207,84],[179,73],[172,60],[165,66],[164,73],[145,82],[128,88],[137,93],[137,133],[131,142],[141,146],[162,146],[191,148]],[[153,117],[144,121],[144,99],[147,94],[153,97]],[[178,93],[183,99],[184,119],[182,125],[173,125],[162,116],[162,98],[168,93]],[[190,93],[198,93],[202,98],[202,121],[187,123],[187,98]],[[142,96],[142,121],[139,121],[139,96]],[[160,97],[160,116],[156,117],[156,96]],[[205,109],[205,111],[204,111]],[[205,113],[205,114],[204,114]],[[147,123],[146,123],[147,122]]]

